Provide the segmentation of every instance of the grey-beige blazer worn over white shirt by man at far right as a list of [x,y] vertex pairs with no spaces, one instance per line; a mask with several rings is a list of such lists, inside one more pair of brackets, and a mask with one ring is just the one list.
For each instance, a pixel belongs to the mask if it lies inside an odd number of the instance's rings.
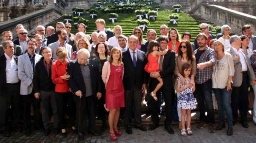
[[[233,86],[234,87],[239,87],[239,86],[241,86],[242,80],[243,80],[243,72],[242,72],[241,62],[240,62],[240,60],[238,60],[235,57],[236,52],[232,48],[229,48],[226,52],[230,53],[230,55],[233,58],[233,62],[234,62],[235,73],[234,73],[234,76],[233,76]],[[242,54],[243,54],[243,58],[245,59],[246,65],[247,65],[247,68],[248,68],[247,69],[247,74],[248,74],[248,77],[249,77],[248,82],[249,82],[249,85],[251,85],[251,80],[256,80],[255,74],[254,74],[253,68],[251,66],[250,60],[248,59],[248,57],[243,52],[242,52]],[[242,57],[240,57],[240,58],[242,58]]]

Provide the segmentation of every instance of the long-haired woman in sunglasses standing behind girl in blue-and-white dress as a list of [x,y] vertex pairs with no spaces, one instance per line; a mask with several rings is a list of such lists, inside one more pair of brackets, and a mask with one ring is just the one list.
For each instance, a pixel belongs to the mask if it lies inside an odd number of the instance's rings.
[[[174,69],[174,74],[176,75],[175,80],[175,90],[177,88],[177,77],[181,78],[182,83],[185,85],[186,79],[181,75],[182,73],[182,65],[185,63],[191,65],[191,79],[194,80],[194,77],[196,76],[196,57],[193,52],[193,48],[191,47],[191,44],[187,40],[183,40],[180,43],[178,54],[176,54],[176,65]],[[191,86],[193,86],[191,84]],[[176,90],[177,91],[177,90]],[[179,98],[180,92],[177,92],[177,98]],[[178,116],[179,116],[179,128],[182,129],[181,126],[181,108],[177,108]],[[186,118],[185,118],[186,119]],[[191,127],[189,127],[191,128]]]

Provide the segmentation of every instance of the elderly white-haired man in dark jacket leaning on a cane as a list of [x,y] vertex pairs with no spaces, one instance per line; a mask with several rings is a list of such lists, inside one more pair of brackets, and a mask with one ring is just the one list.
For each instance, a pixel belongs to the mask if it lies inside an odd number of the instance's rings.
[[95,132],[95,102],[96,98],[101,98],[102,81],[97,63],[89,57],[90,52],[87,49],[80,49],[77,52],[77,59],[68,64],[70,75],[68,84],[76,103],[76,119],[80,119],[78,121],[80,122],[79,140],[84,140],[84,132],[87,130],[87,114],[89,114],[88,133],[94,136],[99,135]]

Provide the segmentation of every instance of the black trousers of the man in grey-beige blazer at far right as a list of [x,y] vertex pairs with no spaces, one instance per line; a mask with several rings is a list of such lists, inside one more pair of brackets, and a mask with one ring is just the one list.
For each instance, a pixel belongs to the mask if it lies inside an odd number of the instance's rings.
[[248,88],[249,88],[249,76],[246,72],[243,72],[243,81],[240,87],[233,87],[231,94],[231,108],[233,114],[233,120],[236,121],[238,118],[238,106],[240,107],[241,121],[247,122],[248,112]]

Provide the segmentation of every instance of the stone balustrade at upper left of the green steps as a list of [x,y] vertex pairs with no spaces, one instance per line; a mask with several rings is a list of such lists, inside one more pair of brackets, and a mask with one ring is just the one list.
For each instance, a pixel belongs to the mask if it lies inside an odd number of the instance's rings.
[[63,11],[61,11],[59,8],[46,7],[42,10],[2,22],[0,24],[0,42],[3,38],[3,31],[10,30],[13,34],[16,34],[15,28],[17,24],[23,24],[29,35],[35,32],[35,28],[38,25],[45,26],[59,19],[62,14]]

